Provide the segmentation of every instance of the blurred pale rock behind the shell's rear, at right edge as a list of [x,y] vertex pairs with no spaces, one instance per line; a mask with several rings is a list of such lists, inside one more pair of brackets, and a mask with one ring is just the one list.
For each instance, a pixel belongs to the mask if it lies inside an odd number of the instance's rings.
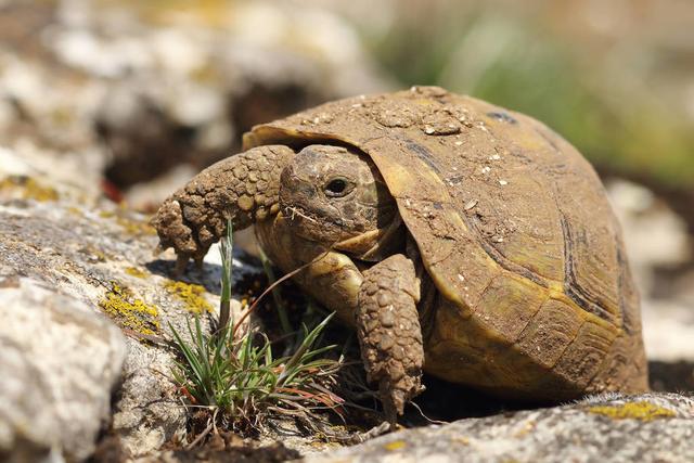
[[607,192],[622,224],[641,291],[648,359],[693,363],[694,242],[686,222],[642,185],[613,179]]

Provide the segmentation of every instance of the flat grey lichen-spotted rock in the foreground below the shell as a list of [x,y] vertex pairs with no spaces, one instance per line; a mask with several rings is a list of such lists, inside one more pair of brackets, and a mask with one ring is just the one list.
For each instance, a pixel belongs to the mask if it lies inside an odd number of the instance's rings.
[[645,394],[407,429],[304,461],[685,462],[692,454],[694,399]]

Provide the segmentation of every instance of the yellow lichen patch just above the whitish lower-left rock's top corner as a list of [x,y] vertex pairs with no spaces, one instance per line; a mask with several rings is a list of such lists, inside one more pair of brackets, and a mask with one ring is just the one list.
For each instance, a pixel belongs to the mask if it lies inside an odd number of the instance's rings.
[[99,303],[99,306],[120,326],[142,334],[159,331],[158,310],[134,297],[132,292],[117,283]]

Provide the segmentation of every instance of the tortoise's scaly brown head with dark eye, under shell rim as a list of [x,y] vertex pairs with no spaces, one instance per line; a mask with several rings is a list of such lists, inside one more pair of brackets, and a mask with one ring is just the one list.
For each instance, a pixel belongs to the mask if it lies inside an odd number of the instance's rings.
[[294,157],[280,179],[280,210],[300,237],[363,260],[378,260],[401,223],[371,158],[343,146],[309,145]]

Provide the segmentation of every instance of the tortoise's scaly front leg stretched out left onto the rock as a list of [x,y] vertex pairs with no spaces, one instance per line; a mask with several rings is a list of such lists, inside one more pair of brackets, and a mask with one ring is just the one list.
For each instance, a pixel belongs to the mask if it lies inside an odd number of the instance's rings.
[[220,160],[195,176],[159,207],[152,226],[162,249],[174,247],[177,268],[202,262],[231,219],[242,230],[277,214],[280,173],[294,157],[283,145],[259,146]]

